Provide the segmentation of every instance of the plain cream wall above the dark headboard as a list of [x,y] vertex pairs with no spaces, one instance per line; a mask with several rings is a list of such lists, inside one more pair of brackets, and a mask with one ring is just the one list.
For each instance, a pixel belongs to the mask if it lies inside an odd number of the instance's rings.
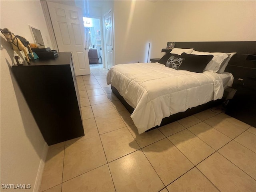
[[156,10],[153,58],[167,42],[256,40],[256,1],[159,1]]

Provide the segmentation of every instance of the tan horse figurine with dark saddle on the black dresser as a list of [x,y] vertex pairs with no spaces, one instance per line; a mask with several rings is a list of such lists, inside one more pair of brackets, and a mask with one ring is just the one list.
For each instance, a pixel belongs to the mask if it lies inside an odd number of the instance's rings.
[[26,48],[28,48],[28,51],[30,52],[33,58],[34,58],[34,55],[28,40],[26,40],[24,37],[14,35],[12,32],[10,32],[10,30],[8,30],[8,28],[3,28],[0,30],[1,30],[1,33],[5,36],[7,42],[9,42],[12,45],[12,48],[14,49],[14,51],[16,51],[16,53],[18,53],[18,51],[24,52],[26,56],[26,60],[28,64],[30,64],[29,60],[31,59],[28,56]]

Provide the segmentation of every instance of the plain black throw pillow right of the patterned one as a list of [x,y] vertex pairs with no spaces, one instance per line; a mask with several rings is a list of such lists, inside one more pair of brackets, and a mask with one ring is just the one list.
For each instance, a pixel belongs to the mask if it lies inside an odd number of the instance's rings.
[[179,70],[202,73],[206,65],[212,60],[213,55],[192,55],[182,53],[181,57],[185,58],[185,60],[180,65]]

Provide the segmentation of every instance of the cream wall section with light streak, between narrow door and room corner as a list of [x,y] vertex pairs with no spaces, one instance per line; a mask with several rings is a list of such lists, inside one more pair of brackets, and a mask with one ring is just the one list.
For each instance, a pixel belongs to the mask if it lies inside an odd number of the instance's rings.
[[146,62],[152,2],[114,1],[115,64]]

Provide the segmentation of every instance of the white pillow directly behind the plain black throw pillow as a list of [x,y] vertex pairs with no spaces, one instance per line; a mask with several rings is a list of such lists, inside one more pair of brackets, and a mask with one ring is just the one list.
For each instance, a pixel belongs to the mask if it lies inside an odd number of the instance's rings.
[[192,55],[213,55],[212,60],[206,65],[204,71],[210,72],[218,72],[220,70],[220,65],[222,62],[228,58],[228,54],[226,53],[210,53],[210,52],[199,52],[199,51],[192,51]]

